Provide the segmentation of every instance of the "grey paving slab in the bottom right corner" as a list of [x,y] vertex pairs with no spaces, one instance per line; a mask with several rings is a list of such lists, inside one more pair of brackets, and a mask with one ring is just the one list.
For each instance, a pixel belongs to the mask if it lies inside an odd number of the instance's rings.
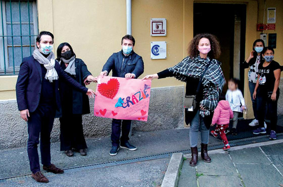
[[246,186],[270,187],[283,184],[283,177],[272,164],[236,164]]

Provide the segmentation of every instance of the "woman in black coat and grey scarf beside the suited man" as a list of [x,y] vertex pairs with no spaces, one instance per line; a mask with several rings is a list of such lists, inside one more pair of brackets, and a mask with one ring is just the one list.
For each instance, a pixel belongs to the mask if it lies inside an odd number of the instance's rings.
[[[81,85],[97,82],[97,77],[91,75],[84,62],[76,58],[69,43],[61,43],[58,46],[57,60],[61,68]],[[64,80],[59,82],[59,92],[62,102],[60,149],[65,151],[67,156],[73,156],[73,149],[84,156],[87,146],[82,129],[82,115],[90,112],[88,97],[73,89]]]

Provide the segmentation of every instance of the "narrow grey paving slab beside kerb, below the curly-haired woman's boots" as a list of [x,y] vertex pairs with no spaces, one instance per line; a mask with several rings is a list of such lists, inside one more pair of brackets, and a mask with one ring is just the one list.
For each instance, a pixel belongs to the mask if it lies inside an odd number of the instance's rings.
[[178,187],[195,186],[197,186],[196,169],[195,167],[190,166],[190,159],[187,159],[183,162]]

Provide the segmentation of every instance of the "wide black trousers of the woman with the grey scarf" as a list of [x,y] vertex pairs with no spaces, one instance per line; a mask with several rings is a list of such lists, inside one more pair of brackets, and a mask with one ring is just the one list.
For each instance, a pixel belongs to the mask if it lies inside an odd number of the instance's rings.
[[86,149],[82,129],[81,114],[63,114],[60,117],[60,149],[61,151]]

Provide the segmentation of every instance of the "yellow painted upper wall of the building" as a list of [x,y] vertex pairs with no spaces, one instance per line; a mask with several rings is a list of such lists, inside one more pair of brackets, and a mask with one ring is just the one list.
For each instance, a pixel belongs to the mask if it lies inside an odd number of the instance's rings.
[[[259,14],[258,14],[259,2]],[[188,42],[193,38],[193,5],[194,3],[246,4],[246,58],[249,56],[252,43],[259,38],[256,31],[257,20],[263,20],[264,1],[254,0],[132,0],[132,35],[136,39],[135,52],[141,55],[145,63],[145,73],[154,74],[177,64],[184,56]],[[275,60],[283,62],[283,2],[267,0],[267,8],[276,7],[276,30],[265,33],[277,33]],[[77,1],[77,0],[44,0],[37,1],[39,31],[48,30],[55,35],[54,48],[61,42],[69,42],[77,57],[82,58],[89,71],[98,75],[108,57],[121,49],[121,37],[126,33],[126,1]],[[258,17],[259,15],[259,17]],[[150,36],[150,19],[167,19],[167,36]],[[150,58],[150,42],[167,42],[167,59]],[[245,71],[244,96],[250,108],[247,118],[252,118],[251,99],[248,89],[248,70]],[[17,76],[0,76],[0,100],[15,99]],[[153,87],[183,85],[174,78],[154,80]],[[90,84],[95,89],[96,84]]]

